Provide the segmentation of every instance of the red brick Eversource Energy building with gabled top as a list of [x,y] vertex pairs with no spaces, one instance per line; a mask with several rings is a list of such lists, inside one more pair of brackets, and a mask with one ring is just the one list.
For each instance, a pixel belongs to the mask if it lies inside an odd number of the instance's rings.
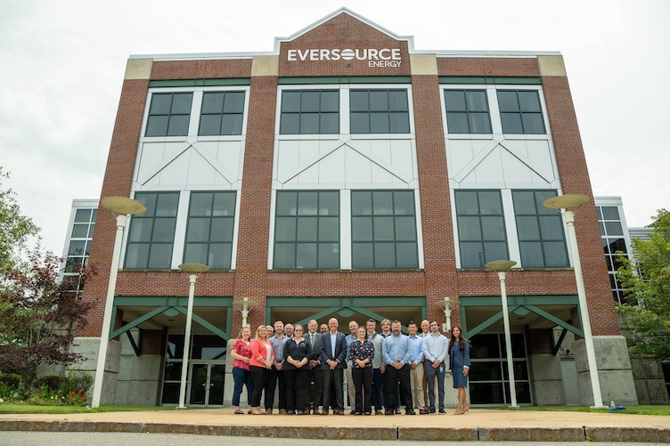
[[[560,53],[418,51],[343,8],[273,53],[131,56],[102,197],[148,211],[123,240],[102,402],[176,404],[189,285],[177,265],[199,263],[211,271],[195,290],[192,405],[230,401],[243,298],[254,328],[444,323],[448,298],[472,341],[470,401],[508,404],[500,282],[484,264],[511,259],[519,403],[565,404],[578,388],[592,404],[583,341],[568,373],[554,335],[581,333],[564,224],[542,206],[568,193],[592,196]],[[101,208],[80,369],[95,368],[115,232]],[[603,399],[636,402],[592,202],[576,232]]]

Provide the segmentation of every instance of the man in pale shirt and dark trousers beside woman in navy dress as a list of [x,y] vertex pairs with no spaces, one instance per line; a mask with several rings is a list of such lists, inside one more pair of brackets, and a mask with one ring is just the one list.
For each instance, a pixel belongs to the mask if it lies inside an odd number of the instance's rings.
[[429,413],[435,413],[435,378],[437,377],[437,407],[445,412],[445,358],[449,352],[449,340],[439,332],[439,325],[430,322],[430,335],[423,337],[423,357],[428,378]]

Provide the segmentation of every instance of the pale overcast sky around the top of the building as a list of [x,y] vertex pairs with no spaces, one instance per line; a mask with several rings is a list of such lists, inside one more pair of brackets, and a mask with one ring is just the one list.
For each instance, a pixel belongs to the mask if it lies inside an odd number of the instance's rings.
[[342,6],[417,50],[560,51],[594,195],[629,226],[670,207],[666,0],[0,0],[0,166],[45,247],[100,196],[128,55],[270,52]]

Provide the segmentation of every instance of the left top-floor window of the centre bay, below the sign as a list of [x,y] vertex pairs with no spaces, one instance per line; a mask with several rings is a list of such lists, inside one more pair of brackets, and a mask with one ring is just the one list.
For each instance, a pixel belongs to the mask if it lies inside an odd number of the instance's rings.
[[338,90],[283,90],[280,134],[339,134]]

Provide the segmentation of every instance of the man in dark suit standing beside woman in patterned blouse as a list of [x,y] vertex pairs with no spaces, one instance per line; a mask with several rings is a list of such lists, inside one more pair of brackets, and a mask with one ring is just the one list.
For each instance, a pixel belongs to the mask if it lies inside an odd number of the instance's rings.
[[339,322],[335,318],[328,321],[328,333],[321,337],[321,369],[323,370],[323,412],[328,415],[328,405],[331,401],[331,388],[335,390],[335,405],[332,413],[344,415],[344,369],[347,369],[347,339],[344,333],[338,331]]

